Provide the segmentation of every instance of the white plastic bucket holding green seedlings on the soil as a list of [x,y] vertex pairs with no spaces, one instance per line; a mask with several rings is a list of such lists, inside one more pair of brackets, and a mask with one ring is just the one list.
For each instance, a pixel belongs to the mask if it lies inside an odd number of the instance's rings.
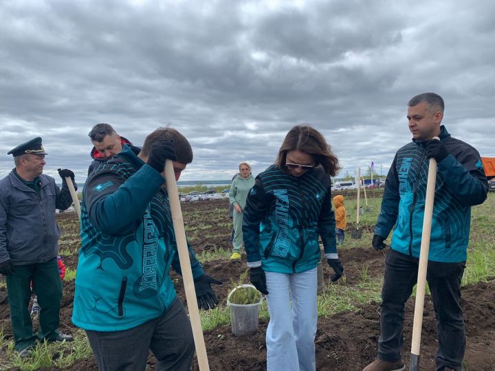
[[230,302],[230,295],[241,289],[241,287],[250,287],[256,290],[252,284],[241,284],[230,291],[227,297],[227,305],[230,306],[230,325],[234,335],[248,335],[256,333],[259,322],[259,307],[263,297],[255,304],[234,304]]

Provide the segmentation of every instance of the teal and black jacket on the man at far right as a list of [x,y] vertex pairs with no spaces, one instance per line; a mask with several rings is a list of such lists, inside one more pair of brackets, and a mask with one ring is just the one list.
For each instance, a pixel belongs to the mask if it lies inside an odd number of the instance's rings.
[[[440,140],[449,155],[437,164],[430,254],[435,262],[463,262],[470,236],[471,206],[483,203],[488,183],[476,149],[450,136],[441,126]],[[393,228],[391,248],[419,257],[426,199],[428,141],[400,148],[385,182],[375,234]]]

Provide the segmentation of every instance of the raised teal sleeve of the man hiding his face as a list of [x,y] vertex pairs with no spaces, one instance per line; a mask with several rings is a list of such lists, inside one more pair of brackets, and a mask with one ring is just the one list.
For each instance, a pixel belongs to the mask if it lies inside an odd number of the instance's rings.
[[115,192],[104,196],[91,207],[91,221],[111,236],[134,229],[146,205],[164,183],[164,178],[151,166],[144,165]]

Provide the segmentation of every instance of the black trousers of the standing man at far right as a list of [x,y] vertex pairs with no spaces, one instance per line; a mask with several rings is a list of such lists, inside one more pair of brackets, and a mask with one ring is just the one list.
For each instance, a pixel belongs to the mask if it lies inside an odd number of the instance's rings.
[[[395,250],[388,251],[380,306],[382,333],[378,339],[378,358],[395,362],[401,359],[404,345],[404,304],[417,283],[419,259]],[[428,262],[426,280],[437,318],[437,370],[448,367],[462,370],[465,352],[464,319],[459,301],[465,262]]]

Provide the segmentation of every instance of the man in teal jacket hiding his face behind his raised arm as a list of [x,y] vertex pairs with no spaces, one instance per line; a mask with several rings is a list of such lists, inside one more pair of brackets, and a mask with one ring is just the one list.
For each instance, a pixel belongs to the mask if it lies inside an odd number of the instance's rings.
[[[180,273],[164,164],[175,178],[192,161],[184,135],[159,128],[139,155],[129,146],[100,164],[85,184],[72,322],[84,328],[100,370],[144,370],[148,350],[160,370],[190,370],[190,322],[168,276]],[[190,249],[200,308],[217,296]]]

